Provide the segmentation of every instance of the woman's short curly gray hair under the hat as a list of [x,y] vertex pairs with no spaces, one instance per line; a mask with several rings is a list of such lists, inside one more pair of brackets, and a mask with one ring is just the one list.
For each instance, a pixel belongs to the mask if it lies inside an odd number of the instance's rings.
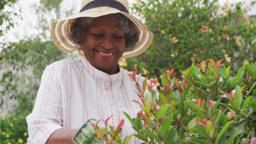
[[[135,24],[123,14],[117,13],[104,16],[112,17],[115,23],[118,23],[118,26],[123,29],[126,39],[125,51],[132,51],[139,39],[138,29]],[[71,26],[71,38],[75,41],[75,43],[79,44],[80,40],[84,37],[86,26],[91,23],[92,19],[94,18],[79,17],[75,19],[73,25]]]

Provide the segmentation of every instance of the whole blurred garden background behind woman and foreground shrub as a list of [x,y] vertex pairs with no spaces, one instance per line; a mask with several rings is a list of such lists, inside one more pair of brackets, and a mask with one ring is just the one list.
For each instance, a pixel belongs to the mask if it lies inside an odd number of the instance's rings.
[[[78,3],[41,0],[27,9],[25,1],[0,2],[0,143],[26,142],[25,117],[32,111],[44,68],[59,59],[77,58],[56,48],[50,39],[50,23],[77,12]],[[131,13],[154,33],[154,42],[143,55],[121,59],[119,64],[159,83],[165,70],[175,68],[179,75],[193,62],[207,58],[223,59],[236,73],[243,61],[255,61],[255,15],[247,15],[255,1],[246,3],[132,1]],[[25,28],[19,27],[22,21],[29,21]],[[10,35],[18,40],[11,41]]]

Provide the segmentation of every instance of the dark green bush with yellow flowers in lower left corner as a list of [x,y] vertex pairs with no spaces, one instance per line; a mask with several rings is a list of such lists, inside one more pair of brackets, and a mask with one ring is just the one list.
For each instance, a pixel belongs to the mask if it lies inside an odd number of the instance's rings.
[[25,117],[31,113],[33,101],[27,94],[18,97],[13,113],[0,113],[0,143],[25,143],[27,140],[27,123]]

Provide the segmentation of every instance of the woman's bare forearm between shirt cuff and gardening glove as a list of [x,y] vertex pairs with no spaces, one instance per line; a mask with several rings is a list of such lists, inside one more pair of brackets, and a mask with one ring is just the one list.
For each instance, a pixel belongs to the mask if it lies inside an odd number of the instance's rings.
[[51,134],[46,144],[73,143],[72,137],[77,131],[78,129],[57,129]]

